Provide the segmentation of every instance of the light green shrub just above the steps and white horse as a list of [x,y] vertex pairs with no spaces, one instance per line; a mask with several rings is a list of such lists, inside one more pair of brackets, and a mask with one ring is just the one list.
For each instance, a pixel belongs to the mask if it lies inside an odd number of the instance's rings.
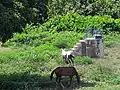
[[71,48],[76,42],[79,41],[80,38],[83,38],[83,33],[76,33],[76,32],[60,32],[55,33],[53,36],[54,39],[52,40],[52,44],[58,48]]

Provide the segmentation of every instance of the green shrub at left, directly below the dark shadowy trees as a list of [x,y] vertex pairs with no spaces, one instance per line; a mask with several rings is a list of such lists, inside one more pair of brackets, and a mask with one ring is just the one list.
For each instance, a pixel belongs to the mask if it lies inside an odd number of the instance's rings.
[[5,45],[8,46],[39,46],[44,44],[42,40],[50,36],[49,32],[42,32],[37,26],[26,25],[24,32],[14,34],[13,38],[8,40]]

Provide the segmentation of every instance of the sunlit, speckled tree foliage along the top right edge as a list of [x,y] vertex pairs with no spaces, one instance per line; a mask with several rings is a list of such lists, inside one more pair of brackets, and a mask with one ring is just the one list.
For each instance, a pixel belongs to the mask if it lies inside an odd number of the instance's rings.
[[48,0],[48,17],[65,15],[69,11],[81,15],[120,17],[119,0]]

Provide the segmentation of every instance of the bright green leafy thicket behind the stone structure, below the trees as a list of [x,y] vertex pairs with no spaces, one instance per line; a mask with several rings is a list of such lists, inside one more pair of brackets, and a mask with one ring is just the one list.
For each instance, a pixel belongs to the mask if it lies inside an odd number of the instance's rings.
[[76,31],[83,32],[85,29],[101,28],[106,32],[108,31],[119,31],[120,19],[113,19],[110,16],[83,16],[78,13],[68,13],[67,15],[55,16],[40,28],[44,31],[60,32],[60,31]]

